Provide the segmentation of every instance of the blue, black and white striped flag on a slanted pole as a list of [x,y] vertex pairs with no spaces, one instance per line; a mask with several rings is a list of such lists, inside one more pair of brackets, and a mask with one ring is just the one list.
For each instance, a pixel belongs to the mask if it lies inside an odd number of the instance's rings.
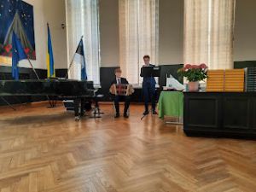
[[69,79],[87,80],[83,39],[80,40],[79,47],[73,56],[73,63],[70,69]]

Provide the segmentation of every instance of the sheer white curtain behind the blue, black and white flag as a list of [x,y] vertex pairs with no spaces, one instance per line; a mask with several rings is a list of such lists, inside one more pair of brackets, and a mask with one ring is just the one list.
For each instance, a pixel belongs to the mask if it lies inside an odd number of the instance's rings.
[[88,80],[100,84],[98,0],[66,0],[67,53],[71,62],[84,36],[84,55]]

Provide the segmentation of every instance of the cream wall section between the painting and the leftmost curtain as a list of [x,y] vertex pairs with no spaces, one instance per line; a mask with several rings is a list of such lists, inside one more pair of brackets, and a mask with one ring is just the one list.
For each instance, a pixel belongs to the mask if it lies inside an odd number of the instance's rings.
[[[65,0],[24,0],[34,8],[34,30],[37,60],[32,61],[35,68],[46,69],[47,22],[51,28],[51,38],[55,55],[55,68],[67,68],[66,30],[61,29],[65,23]],[[9,64],[2,64],[10,66]],[[30,67],[27,61],[21,61],[20,67]]]

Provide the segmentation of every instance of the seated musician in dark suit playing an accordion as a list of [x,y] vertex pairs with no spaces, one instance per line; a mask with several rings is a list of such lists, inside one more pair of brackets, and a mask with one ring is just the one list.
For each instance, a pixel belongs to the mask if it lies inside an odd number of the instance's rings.
[[122,78],[122,71],[120,68],[114,70],[115,79],[113,79],[110,87],[110,92],[114,95],[114,107],[115,107],[115,118],[119,118],[119,102],[123,100],[125,102],[124,117],[129,118],[128,109],[130,106],[130,96],[133,93],[131,84],[128,83],[127,79]]

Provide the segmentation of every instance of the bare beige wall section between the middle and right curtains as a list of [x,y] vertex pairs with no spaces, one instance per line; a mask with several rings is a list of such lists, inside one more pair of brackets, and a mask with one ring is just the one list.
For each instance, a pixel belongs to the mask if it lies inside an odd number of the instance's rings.
[[183,63],[183,0],[160,0],[159,64]]

